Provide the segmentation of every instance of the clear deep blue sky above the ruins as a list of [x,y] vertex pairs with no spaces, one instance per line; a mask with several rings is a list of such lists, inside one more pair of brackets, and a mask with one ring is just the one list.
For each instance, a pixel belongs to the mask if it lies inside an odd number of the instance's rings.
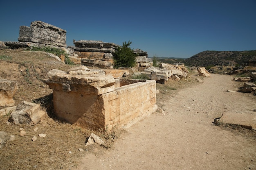
[[73,39],[101,40],[189,58],[205,50],[256,50],[256,0],[0,1],[0,41],[18,41],[19,27],[39,20]]

